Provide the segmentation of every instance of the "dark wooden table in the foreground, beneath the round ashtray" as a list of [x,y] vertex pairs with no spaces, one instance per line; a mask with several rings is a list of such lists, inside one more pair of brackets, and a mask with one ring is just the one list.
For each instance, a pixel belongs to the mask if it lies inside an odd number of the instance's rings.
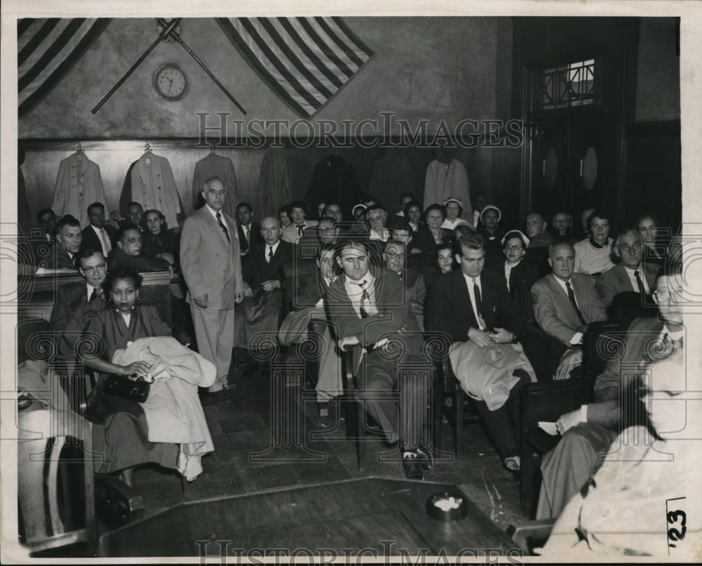
[[427,500],[446,490],[463,495],[450,484],[364,478],[194,501],[103,534],[99,555],[521,555],[467,497],[466,518],[430,518]]

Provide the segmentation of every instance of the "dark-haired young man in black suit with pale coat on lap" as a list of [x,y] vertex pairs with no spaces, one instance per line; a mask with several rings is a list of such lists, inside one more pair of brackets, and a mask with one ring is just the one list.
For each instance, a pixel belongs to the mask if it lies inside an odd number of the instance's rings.
[[[477,232],[464,234],[456,242],[454,252],[461,269],[437,277],[432,283],[427,297],[428,331],[443,332],[449,334],[454,343],[472,343],[479,348],[516,343],[524,322],[499,277],[483,270],[483,237]],[[453,365],[458,379],[474,380],[474,383],[482,379],[479,373],[467,377],[459,375]],[[508,380],[510,393],[501,407],[490,410],[485,400],[477,400],[476,407],[501,460],[508,469],[516,471],[520,467],[517,456],[519,391],[529,382],[529,376],[516,365],[510,375],[515,378]]]

